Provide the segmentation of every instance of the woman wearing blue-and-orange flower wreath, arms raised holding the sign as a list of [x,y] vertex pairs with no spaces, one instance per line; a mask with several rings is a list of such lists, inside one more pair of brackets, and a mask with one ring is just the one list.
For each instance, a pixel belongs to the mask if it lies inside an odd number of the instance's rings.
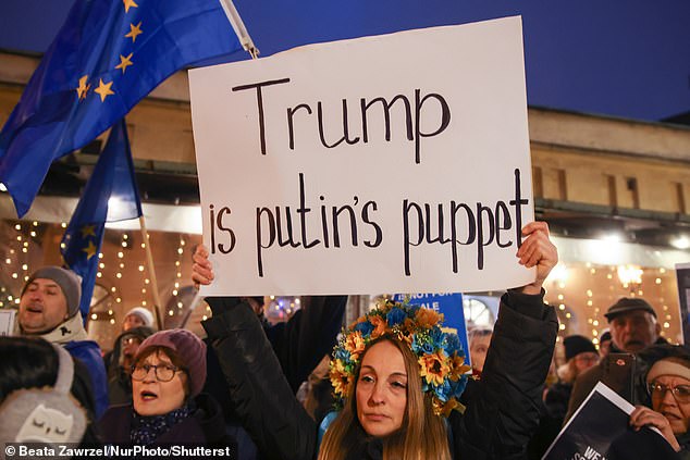
[[[298,433],[289,442],[311,446],[301,450],[299,459],[305,460],[317,452],[325,460],[523,458],[539,423],[538,401],[558,328],[553,308],[543,303],[542,289],[558,256],[546,223],[527,224],[522,234],[526,238],[516,256],[520,264],[537,269],[537,277],[502,297],[482,380],[467,408],[458,398],[469,368],[457,336],[442,331],[442,315],[386,302],[344,331],[333,350],[331,381],[342,410],[321,424],[325,434],[320,444],[317,427],[311,425],[312,431],[303,414],[287,421],[289,426],[272,420],[269,406],[278,409],[289,402],[276,397],[289,389],[286,383],[285,388],[268,391],[258,385],[251,391],[263,409],[257,413],[238,408],[247,431],[258,444],[267,431]],[[255,362],[270,358],[264,355],[272,351],[258,321],[244,310],[236,308],[226,318],[242,322],[242,327],[233,328],[247,335],[244,343],[252,349],[246,366],[254,381],[261,382],[261,373],[268,376],[280,368],[257,369]],[[224,373],[230,382],[231,371]],[[259,448],[275,451],[270,446]]]

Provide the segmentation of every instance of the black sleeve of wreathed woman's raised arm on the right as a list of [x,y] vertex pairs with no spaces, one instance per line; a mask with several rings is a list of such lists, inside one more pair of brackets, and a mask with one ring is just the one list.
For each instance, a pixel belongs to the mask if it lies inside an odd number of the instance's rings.
[[539,425],[539,401],[558,332],[541,295],[508,290],[478,389],[464,415],[451,417],[455,458],[518,459]]

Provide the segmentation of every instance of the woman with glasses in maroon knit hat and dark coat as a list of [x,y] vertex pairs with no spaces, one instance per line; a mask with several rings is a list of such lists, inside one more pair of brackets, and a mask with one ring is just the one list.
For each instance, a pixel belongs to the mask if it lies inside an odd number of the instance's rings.
[[132,403],[101,419],[107,443],[231,446],[222,411],[208,395],[206,344],[186,330],[158,332],[141,343],[132,366]]

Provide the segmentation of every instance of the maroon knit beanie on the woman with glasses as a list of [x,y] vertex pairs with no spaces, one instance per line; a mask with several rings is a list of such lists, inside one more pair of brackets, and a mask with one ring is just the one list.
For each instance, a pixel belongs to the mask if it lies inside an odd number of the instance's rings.
[[151,347],[165,347],[175,351],[187,370],[189,396],[201,393],[206,382],[206,344],[187,330],[160,331],[139,345],[134,361]]

